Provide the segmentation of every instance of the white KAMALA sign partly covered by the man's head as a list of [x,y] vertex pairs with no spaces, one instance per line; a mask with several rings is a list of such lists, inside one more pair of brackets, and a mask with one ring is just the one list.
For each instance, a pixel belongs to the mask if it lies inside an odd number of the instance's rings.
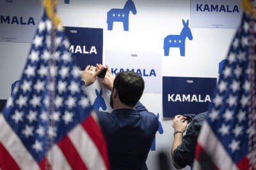
[[105,56],[112,74],[134,71],[145,81],[145,93],[161,93],[161,53],[106,51]]

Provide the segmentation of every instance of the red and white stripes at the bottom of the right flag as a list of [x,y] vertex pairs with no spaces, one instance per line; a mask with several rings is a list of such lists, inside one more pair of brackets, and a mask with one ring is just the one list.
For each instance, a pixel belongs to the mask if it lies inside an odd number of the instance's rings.
[[[215,169],[238,170],[244,169],[244,167],[248,165],[247,158],[241,160],[238,164],[233,162],[207,122],[204,122],[202,125],[202,131],[200,131],[200,135],[197,139],[193,169],[201,169],[199,157],[203,152],[209,155]],[[243,167],[241,168],[241,166]]]

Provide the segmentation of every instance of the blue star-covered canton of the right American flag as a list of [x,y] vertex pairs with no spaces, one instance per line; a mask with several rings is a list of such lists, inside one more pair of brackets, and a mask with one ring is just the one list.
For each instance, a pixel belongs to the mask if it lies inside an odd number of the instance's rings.
[[250,17],[244,14],[207,117],[212,131],[235,163],[248,154],[248,136],[253,134],[248,129],[249,21]]

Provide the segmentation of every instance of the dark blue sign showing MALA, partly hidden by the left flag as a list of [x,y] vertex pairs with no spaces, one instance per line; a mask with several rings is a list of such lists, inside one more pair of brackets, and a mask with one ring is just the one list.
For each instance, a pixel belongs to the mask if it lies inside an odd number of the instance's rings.
[[103,29],[65,27],[65,34],[70,41],[69,50],[80,69],[102,64]]

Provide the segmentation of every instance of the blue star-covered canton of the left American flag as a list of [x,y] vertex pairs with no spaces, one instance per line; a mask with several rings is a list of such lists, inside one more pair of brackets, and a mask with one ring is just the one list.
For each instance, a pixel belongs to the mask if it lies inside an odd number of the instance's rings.
[[[6,122],[37,162],[44,158],[48,138],[53,141],[52,144],[58,143],[70,129],[83,122],[92,110],[61,25],[56,32],[56,52],[53,55],[49,52],[51,27],[52,22],[44,13],[20,83],[3,110]],[[52,104],[54,110],[51,110]],[[51,115],[48,116],[48,113]],[[53,124],[47,126],[47,120]]]

